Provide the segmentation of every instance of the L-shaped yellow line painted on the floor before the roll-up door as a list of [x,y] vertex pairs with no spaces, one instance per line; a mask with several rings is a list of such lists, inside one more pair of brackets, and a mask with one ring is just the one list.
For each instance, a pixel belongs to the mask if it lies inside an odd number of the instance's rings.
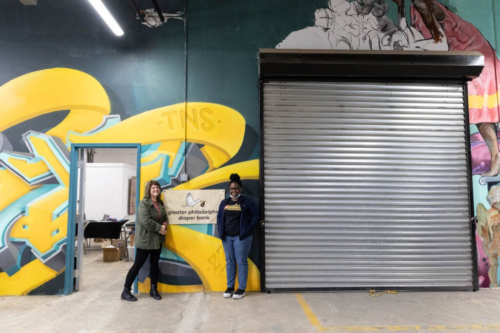
[[321,332],[408,332],[408,331],[450,331],[462,330],[473,332],[477,330],[500,330],[500,325],[390,325],[390,326],[328,326],[324,327],[317,319],[314,312],[304,300],[302,294],[295,294],[295,297],[304,311],[305,317],[311,325]]

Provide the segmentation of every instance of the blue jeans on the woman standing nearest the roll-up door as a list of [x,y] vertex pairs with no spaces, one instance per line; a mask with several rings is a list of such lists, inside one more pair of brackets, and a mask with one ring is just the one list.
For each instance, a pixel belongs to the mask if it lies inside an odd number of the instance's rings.
[[248,278],[248,253],[250,252],[252,236],[240,241],[239,236],[225,236],[222,247],[225,254],[225,272],[227,287],[234,287],[236,280],[236,264],[238,265],[238,288],[246,289]]

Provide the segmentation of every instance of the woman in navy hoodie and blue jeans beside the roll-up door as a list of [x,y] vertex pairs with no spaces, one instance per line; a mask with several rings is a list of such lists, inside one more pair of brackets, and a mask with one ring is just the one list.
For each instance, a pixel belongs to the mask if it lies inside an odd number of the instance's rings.
[[[248,253],[253,228],[258,223],[258,212],[250,200],[241,196],[241,180],[237,173],[229,177],[229,198],[220,202],[217,212],[217,230],[225,254],[227,289],[224,298],[239,300],[245,296],[248,278]],[[238,289],[234,291],[238,270]]]

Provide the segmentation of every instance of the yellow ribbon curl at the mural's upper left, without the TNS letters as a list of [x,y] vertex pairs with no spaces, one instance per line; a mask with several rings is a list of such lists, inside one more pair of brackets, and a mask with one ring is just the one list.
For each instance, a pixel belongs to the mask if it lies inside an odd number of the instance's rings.
[[[61,123],[47,132],[63,141],[70,130],[83,133],[95,128],[110,110],[100,83],[69,68],[43,69],[16,77],[0,87],[0,100],[0,132],[42,114],[70,110]],[[81,121],[83,118],[85,121]]]

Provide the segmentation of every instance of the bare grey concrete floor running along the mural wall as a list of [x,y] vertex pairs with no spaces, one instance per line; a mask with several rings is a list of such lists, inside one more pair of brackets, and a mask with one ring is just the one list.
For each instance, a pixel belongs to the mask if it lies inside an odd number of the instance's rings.
[[148,294],[120,300],[131,262],[83,258],[80,291],[0,297],[0,332],[500,332],[500,290],[352,293]]

